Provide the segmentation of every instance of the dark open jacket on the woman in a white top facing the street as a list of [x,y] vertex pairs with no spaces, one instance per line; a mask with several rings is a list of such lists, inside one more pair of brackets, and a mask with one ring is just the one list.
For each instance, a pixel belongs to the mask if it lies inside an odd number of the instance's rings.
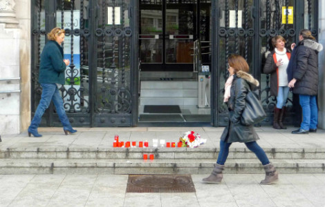
[[[266,53],[266,63],[263,68],[263,72],[265,74],[270,74],[270,91],[272,96],[277,96],[277,92],[279,91],[279,77],[278,77],[278,67],[275,64],[275,50],[272,50],[272,52]],[[290,60],[290,52],[286,52],[286,55],[288,56],[288,59]]]

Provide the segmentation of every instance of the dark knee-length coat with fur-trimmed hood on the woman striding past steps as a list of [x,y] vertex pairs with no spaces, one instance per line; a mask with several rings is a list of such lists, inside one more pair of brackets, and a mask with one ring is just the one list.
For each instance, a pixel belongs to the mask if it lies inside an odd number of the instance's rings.
[[244,126],[241,124],[241,114],[245,108],[245,97],[249,91],[259,86],[259,81],[252,75],[239,71],[234,75],[230,88],[230,98],[228,101],[229,121],[228,126],[223,130],[221,140],[228,143],[250,142],[259,139],[254,130],[254,126]]

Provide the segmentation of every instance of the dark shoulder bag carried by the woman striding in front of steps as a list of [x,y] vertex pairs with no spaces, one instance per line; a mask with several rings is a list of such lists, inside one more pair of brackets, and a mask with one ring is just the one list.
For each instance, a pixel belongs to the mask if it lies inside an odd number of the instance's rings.
[[249,88],[245,100],[246,105],[241,114],[241,124],[249,126],[263,121],[266,117],[266,112],[259,100],[259,90],[252,91]]

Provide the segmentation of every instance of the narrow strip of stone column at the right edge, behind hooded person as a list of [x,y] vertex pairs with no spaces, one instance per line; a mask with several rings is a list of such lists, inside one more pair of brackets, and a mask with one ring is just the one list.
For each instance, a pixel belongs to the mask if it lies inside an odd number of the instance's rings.
[[318,86],[318,127],[325,129],[325,1],[319,1],[319,33],[318,40],[324,47],[322,52],[318,54],[318,71],[319,71],[319,86]]

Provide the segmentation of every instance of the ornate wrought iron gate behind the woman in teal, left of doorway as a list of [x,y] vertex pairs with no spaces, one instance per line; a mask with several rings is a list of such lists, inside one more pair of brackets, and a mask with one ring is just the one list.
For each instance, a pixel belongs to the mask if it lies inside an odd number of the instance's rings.
[[[59,90],[73,126],[133,126],[131,68],[136,18],[130,0],[32,1],[32,112],[41,96],[39,58],[46,34],[54,27],[66,30],[64,58],[71,60],[66,83]],[[132,43],[133,42],[133,43]],[[61,126],[51,105],[43,126]]]

